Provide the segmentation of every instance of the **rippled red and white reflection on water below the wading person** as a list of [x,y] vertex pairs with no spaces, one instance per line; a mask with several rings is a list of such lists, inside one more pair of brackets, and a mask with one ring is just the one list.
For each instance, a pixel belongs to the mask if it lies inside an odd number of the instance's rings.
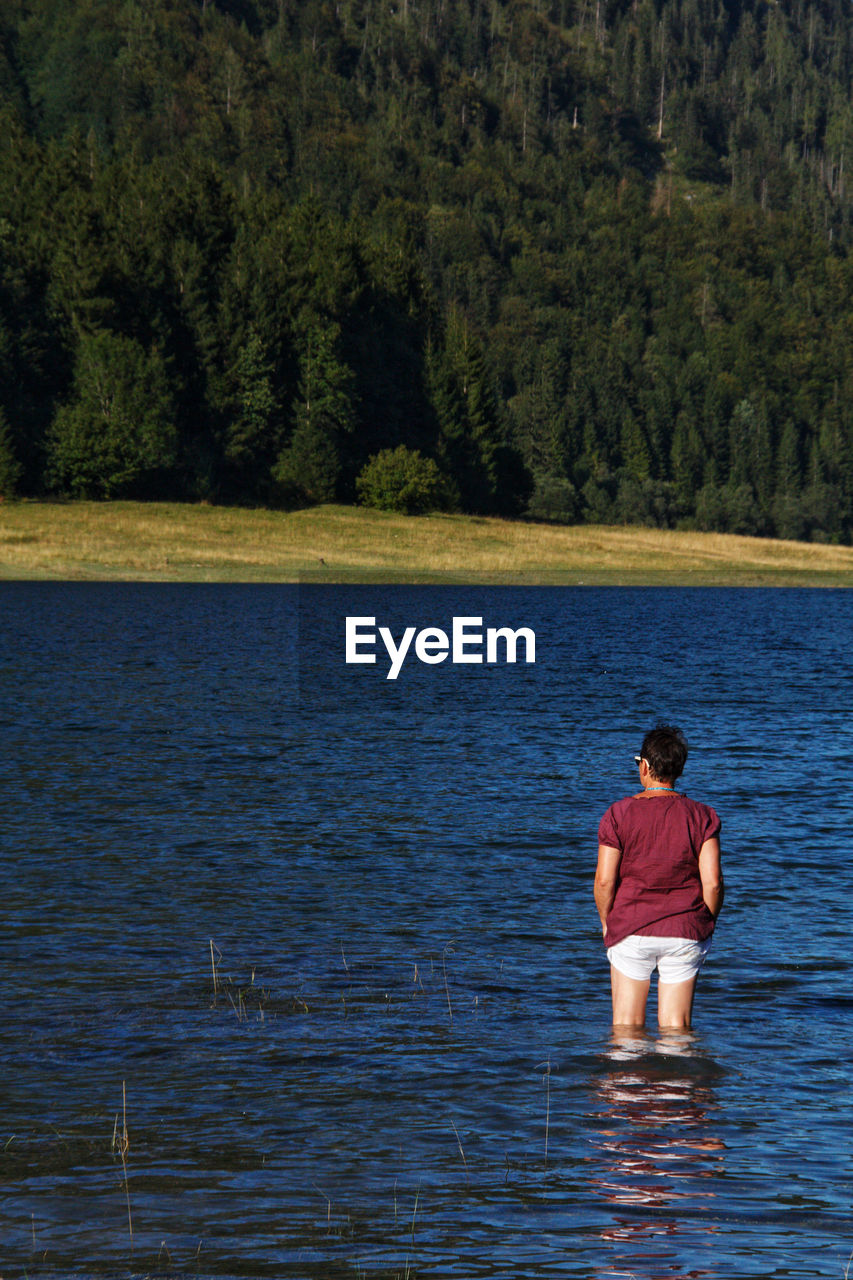
[[593,1189],[612,1206],[602,1280],[716,1275],[708,1236],[725,1149],[713,1132],[716,1074],[690,1032],[613,1033],[593,1082],[602,1120]]

